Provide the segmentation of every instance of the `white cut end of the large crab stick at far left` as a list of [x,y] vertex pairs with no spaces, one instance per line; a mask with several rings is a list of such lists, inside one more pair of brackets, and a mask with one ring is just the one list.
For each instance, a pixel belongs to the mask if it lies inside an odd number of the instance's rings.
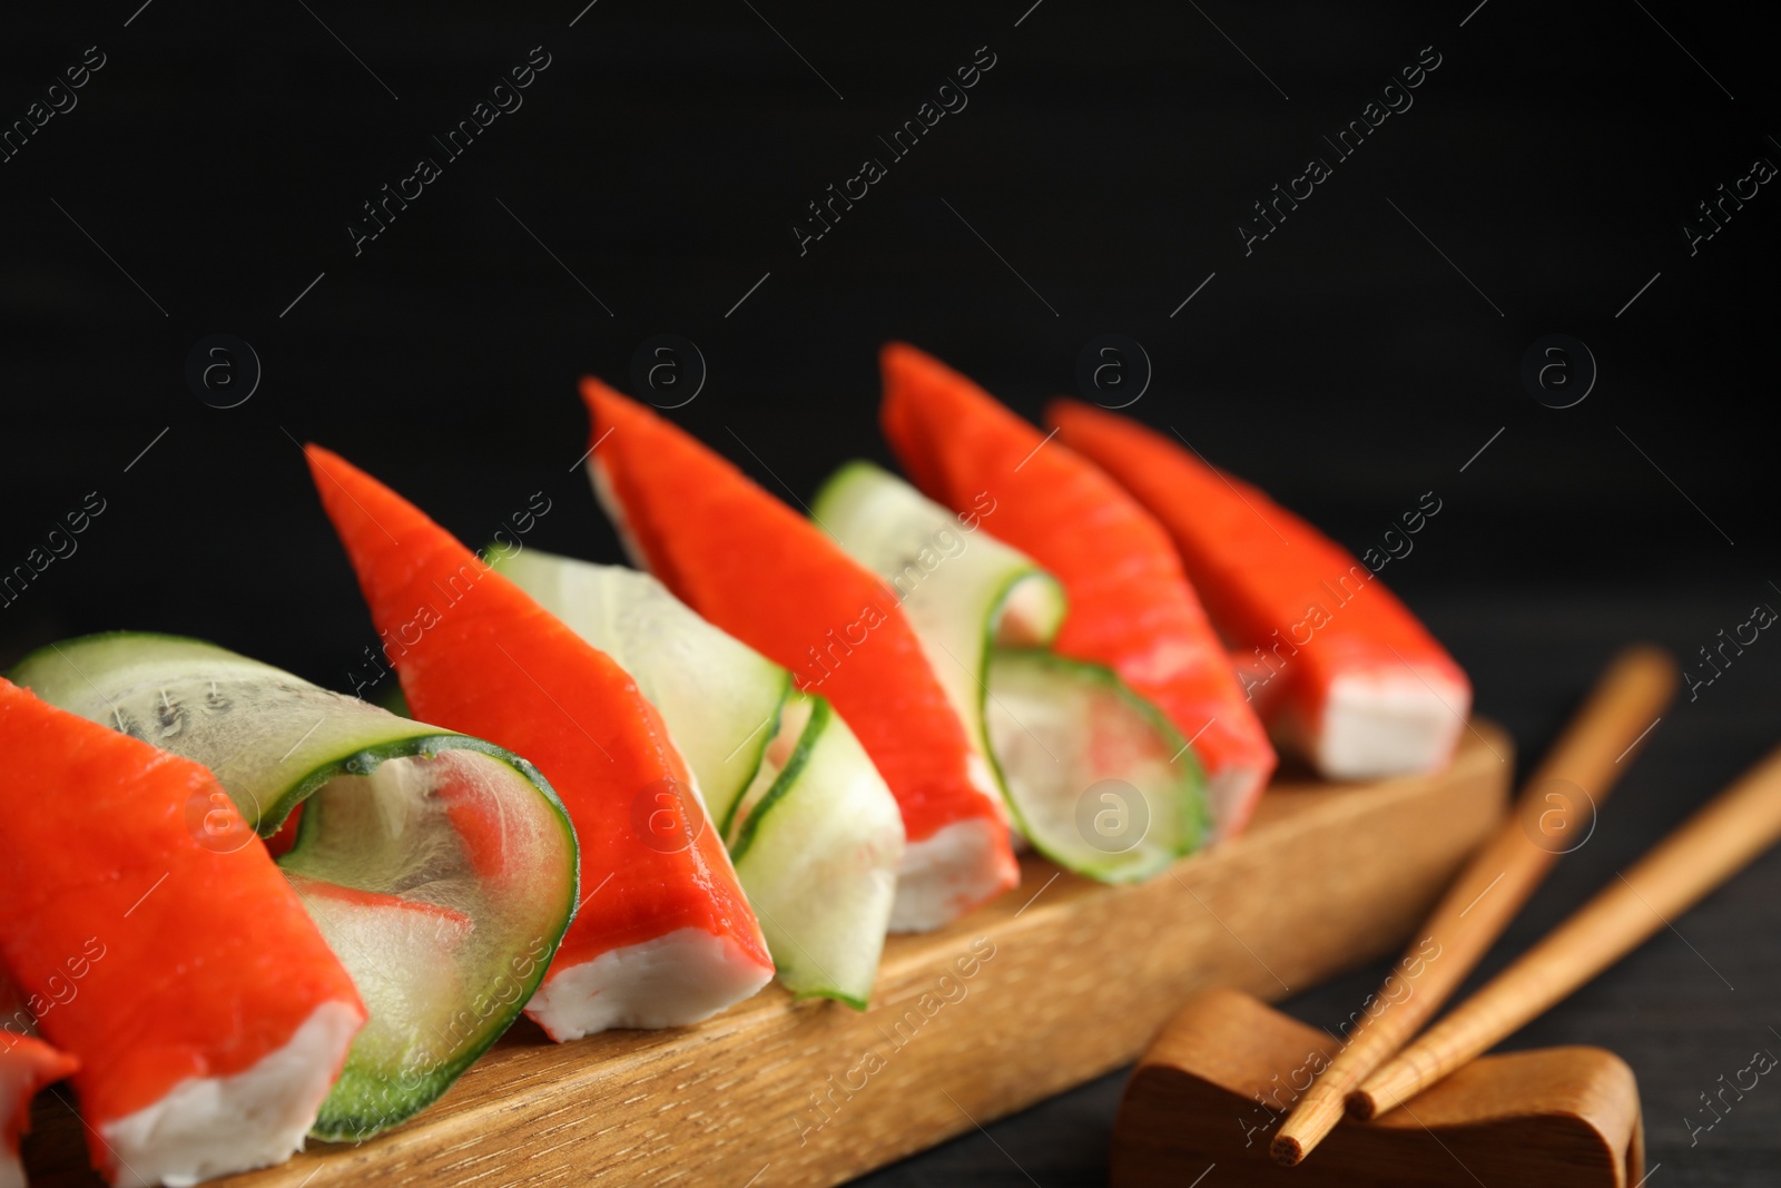
[[112,1184],[189,1188],[303,1151],[358,1028],[353,1003],[322,1003],[289,1044],[251,1069],[189,1078],[155,1104],[105,1122],[100,1135],[116,1156]]

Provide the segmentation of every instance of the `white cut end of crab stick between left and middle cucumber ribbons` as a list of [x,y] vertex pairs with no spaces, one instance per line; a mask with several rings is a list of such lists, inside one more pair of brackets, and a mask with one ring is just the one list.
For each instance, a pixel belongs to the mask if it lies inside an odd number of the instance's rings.
[[607,1028],[684,1028],[753,997],[771,980],[773,967],[736,942],[677,928],[552,969],[525,1013],[559,1044]]

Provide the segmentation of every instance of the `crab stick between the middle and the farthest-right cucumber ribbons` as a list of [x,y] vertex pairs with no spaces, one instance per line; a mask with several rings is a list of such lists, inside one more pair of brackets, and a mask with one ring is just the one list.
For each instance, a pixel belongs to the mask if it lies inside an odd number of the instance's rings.
[[896,796],[908,839],[890,928],[937,928],[1013,887],[1001,798],[892,593],[817,525],[598,379],[595,490],[682,602],[826,696]]

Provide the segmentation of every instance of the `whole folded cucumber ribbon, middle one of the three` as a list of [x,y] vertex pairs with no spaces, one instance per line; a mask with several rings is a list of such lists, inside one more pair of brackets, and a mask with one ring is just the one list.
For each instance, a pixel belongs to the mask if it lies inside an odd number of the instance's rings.
[[903,816],[826,700],[638,570],[500,556],[661,711],[705,793],[780,983],[866,1010],[903,860]]

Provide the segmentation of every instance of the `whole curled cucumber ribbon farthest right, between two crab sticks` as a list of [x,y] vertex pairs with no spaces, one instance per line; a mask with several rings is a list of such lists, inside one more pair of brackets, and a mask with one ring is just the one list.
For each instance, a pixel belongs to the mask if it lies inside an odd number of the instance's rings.
[[1186,739],[1111,670],[1047,650],[1063,590],[983,517],[955,517],[866,461],[837,470],[810,515],[901,602],[1035,850],[1136,882],[1204,841]]

